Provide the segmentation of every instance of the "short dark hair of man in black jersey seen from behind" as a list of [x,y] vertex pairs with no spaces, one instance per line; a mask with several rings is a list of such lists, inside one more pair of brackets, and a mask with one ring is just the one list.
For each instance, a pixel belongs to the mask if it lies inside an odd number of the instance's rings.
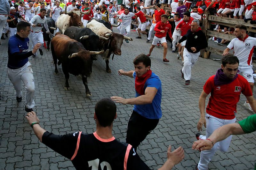
[[116,104],[109,98],[100,99],[95,105],[95,115],[100,126],[111,126],[116,116]]

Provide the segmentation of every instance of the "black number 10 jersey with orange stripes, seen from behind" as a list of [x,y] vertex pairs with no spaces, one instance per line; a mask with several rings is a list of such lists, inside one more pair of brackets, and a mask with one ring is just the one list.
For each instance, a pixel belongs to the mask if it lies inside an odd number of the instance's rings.
[[54,135],[44,132],[42,142],[52,150],[70,159],[76,169],[148,170],[130,144],[112,137],[100,138],[96,132]]

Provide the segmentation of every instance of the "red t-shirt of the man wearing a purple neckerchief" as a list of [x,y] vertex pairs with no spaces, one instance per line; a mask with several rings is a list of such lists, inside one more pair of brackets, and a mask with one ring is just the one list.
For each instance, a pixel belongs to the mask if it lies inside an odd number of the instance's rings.
[[226,85],[214,85],[214,76],[204,84],[204,92],[209,94],[206,113],[219,119],[234,119],[236,117],[236,104],[240,99],[241,92],[245,96],[252,96],[248,81],[241,75]]

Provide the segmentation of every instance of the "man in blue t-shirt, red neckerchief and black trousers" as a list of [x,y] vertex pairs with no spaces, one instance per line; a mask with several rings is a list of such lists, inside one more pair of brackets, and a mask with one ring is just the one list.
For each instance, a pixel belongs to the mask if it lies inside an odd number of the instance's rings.
[[135,71],[119,70],[118,73],[135,79],[135,98],[113,96],[111,99],[118,103],[134,105],[127,125],[126,143],[131,144],[136,150],[156,128],[162,117],[162,86],[159,77],[150,70],[151,60],[147,55],[138,55],[133,64]]

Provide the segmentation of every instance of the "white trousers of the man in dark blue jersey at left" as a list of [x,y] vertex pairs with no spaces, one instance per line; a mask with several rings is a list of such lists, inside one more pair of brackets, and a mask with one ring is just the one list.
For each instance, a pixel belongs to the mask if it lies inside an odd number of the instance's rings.
[[12,85],[14,86],[17,97],[21,97],[22,95],[21,81],[23,81],[23,84],[27,89],[26,106],[29,109],[33,108],[35,106],[35,82],[32,71],[32,65],[29,62],[27,62],[21,68],[14,70],[9,69],[7,67],[7,76],[12,82]]

